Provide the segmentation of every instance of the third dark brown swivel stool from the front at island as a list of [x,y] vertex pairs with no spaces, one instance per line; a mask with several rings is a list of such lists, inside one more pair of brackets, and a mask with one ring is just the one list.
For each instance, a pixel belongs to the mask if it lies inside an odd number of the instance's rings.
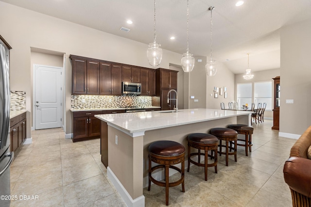
[[[234,161],[237,161],[237,139],[238,133],[233,129],[228,128],[213,128],[210,130],[210,134],[216,136],[219,139],[219,155],[225,155],[225,165],[228,166],[229,155],[234,155]],[[222,140],[225,141],[225,145],[222,145]],[[234,141],[234,147],[229,146],[229,142]],[[225,147],[225,152],[222,152],[222,147]],[[229,153],[229,149],[233,149],[233,152]]]

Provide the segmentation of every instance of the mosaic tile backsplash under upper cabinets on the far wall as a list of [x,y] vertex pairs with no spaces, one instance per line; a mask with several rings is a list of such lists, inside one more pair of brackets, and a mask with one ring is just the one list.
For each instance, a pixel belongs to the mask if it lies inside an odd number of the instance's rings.
[[115,107],[147,107],[152,106],[150,96],[122,95],[96,96],[71,95],[71,108],[115,108]]

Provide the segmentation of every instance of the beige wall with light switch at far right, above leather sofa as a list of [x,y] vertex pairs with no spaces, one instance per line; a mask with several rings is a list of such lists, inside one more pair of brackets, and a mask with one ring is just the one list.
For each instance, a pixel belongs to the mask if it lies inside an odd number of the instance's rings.
[[301,135],[311,125],[311,19],[282,28],[280,35],[280,133]]

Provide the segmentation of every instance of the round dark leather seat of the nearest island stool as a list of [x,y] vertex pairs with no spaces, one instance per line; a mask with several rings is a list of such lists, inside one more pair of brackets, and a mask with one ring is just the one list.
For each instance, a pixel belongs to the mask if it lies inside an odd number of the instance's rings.
[[148,151],[159,156],[177,156],[185,153],[185,147],[175,141],[161,140],[150,144]]

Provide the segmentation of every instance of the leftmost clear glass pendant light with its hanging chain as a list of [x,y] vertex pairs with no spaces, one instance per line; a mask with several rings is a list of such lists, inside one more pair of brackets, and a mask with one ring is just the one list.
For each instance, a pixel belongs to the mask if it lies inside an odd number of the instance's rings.
[[[154,17],[155,17],[155,3],[154,3]],[[151,66],[158,66],[162,60],[162,49],[160,48],[160,44],[155,42],[155,20],[154,20],[154,41],[149,44],[149,48],[147,49],[147,58],[148,62]]]

